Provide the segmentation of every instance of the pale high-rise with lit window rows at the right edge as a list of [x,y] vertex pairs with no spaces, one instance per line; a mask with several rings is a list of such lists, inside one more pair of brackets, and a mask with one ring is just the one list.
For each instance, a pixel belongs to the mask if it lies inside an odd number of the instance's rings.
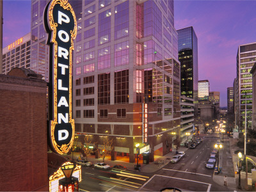
[[[256,61],[256,42],[239,45],[237,51],[237,82],[238,82],[238,122],[239,129],[252,127],[252,69]],[[246,110],[245,110],[246,109]]]

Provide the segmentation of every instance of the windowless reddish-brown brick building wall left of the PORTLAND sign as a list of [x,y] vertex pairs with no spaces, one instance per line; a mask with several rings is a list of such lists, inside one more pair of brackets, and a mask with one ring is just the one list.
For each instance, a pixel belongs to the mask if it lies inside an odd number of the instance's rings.
[[1,191],[49,189],[46,93],[46,82],[35,76],[0,75]]

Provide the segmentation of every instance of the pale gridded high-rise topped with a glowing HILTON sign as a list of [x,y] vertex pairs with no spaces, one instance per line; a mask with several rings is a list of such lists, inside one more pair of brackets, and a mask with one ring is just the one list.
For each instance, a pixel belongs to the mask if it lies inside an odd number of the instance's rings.
[[30,68],[31,63],[31,36],[25,36],[12,42],[3,49],[3,74],[15,67]]

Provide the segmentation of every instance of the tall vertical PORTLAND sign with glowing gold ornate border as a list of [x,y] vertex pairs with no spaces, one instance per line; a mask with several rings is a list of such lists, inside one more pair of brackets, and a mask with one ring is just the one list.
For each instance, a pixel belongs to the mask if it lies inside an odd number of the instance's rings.
[[67,153],[74,141],[72,119],[72,50],[77,23],[67,0],[52,0],[44,11],[44,26],[50,45],[49,143],[59,154]]

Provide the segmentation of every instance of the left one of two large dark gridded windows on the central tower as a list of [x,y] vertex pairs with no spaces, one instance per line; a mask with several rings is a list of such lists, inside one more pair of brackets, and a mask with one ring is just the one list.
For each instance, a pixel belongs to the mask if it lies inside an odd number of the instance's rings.
[[98,75],[98,104],[110,104],[110,73]]

